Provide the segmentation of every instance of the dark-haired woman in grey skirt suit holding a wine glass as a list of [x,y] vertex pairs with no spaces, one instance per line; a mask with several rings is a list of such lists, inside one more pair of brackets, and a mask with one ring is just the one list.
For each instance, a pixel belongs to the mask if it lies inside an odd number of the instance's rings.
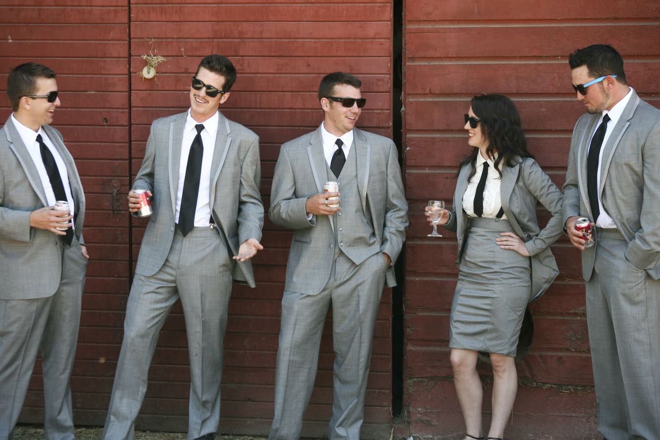
[[[494,383],[486,439],[496,440],[504,438],[515,400],[514,356],[525,307],[558,274],[549,246],[562,231],[562,194],[527,151],[509,98],[472,98],[465,129],[474,148],[461,160],[453,210],[444,210],[439,222],[457,233],[459,249],[450,360],[465,440],[483,439],[477,354],[490,354]],[[552,214],[543,230],[537,201]]]

